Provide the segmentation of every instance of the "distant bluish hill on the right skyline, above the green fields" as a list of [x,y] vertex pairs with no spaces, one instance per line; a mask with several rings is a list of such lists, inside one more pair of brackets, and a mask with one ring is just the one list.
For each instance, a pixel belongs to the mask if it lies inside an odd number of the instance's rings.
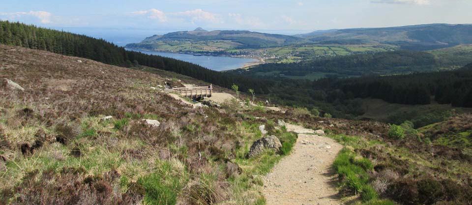
[[472,44],[472,25],[427,24],[404,27],[339,29],[306,35],[321,44],[372,44],[399,46],[402,50],[431,50]]

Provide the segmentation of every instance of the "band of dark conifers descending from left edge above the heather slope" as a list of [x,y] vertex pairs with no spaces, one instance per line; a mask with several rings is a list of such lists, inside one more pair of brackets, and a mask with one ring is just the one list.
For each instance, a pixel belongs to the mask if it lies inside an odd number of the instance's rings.
[[[230,88],[234,83],[243,90],[249,88],[257,92],[268,92],[270,82],[212,71],[197,64],[126,51],[103,39],[78,35],[53,29],[38,28],[33,25],[0,21],[0,43],[22,46],[30,49],[50,51],[62,55],[92,59],[111,65],[135,67],[145,65],[173,71],[208,83]],[[46,60],[46,59],[45,59]]]

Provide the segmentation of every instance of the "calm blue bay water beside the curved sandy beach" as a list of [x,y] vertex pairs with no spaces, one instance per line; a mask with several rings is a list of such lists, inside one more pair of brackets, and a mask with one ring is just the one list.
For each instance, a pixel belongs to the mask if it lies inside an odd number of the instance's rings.
[[[128,49],[132,50],[132,49]],[[244,64],[248,62],[256,62],[258,59],[246,59],[246,58],[234,58],[234,57],[222,57],[222,56],[194,56],[190,54],[176,54],[176,53],[164,53],[164,52],[155,52],[155,51],[139,51],[145,54],[159,55],[164,57],[169,57],[173,59],[179,59],[195,64],[199,64],[203,67],[206,67],[211,70],[223,71],[231,70],[243,67]]]

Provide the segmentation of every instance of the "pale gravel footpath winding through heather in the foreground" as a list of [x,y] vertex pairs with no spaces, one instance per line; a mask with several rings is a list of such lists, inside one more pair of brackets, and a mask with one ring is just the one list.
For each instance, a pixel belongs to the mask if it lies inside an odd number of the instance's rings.
[[294,150],[264,179],[267,205],[340,205],[331,165],[342,145],[314,135],[311,129],[287,124],[298,133]]

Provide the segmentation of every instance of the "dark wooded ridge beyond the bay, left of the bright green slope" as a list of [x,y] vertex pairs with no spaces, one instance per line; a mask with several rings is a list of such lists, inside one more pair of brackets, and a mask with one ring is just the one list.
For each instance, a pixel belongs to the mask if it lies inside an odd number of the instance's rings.
[[329,59],[306,60],[298,63],[267,63],[241,72],[254,73],[281,71],[288,76],[303,76],[313,72],[345,76],[384,75],[412,71],[431,71],[436,67],[434,55],[415,51],[394,51],[376,54],[358,54]]

